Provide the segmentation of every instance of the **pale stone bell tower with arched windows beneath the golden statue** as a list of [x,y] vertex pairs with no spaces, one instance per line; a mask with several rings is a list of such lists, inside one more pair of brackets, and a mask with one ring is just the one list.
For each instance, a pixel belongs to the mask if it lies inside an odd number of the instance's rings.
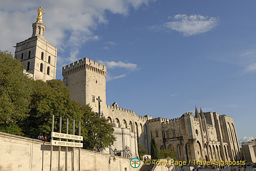
[[14,58],[24,64],[24,68],[34,80],[55,79],[57,48],[45,39],[46,26],[42,20],[34,22],[32,27],[32,36],[16,44]]

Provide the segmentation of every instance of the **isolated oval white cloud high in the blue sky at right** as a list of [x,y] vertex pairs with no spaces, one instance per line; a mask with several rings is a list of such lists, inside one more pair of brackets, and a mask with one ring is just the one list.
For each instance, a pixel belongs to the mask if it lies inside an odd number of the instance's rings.
[[214,29],[219,19],[217,17],[205,17],[202,15],[177,14],[174,17],[169,16],[168,19],[173,21],[166,22],[164,27],[167,29],[182,32],[184,36],[193,36],[200,33],[208,32]]

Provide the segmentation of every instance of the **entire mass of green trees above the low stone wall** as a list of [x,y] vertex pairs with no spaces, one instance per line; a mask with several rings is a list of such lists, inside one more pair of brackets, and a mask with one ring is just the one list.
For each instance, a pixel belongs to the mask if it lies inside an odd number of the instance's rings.
[[54,131],[59,131],[62,117],[62,133],[66,133],[69,118],[69,134],[75,134],[81,121],[84,148],[105,149],[113,145],[114,129],[104,117],[99,118],[89,105],[80,106],[70,100],[70,90],[61,80],[34,81],[23,74],[23,64],[8,52],[0,51],[0,131],[30,138],[39,133],[51,136],[52,116]]

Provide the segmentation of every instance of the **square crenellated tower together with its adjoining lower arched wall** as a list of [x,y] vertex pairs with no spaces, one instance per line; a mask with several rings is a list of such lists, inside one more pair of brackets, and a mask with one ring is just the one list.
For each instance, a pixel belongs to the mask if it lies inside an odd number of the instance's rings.
[[125,146],[132,152],[131,157],[138,157],[138,142],[147,146],[147,136],[144,131],[146,120],[151,116],[139,116],[132,110],[119,108],[117,103],[106,104],[106,66],[88,58],[71,63],[62,68],[63,82],[71,90],[70,98],[80,105],[89,104],[94,112],[99,112],[101,100],[101,116],[108,118],[115,127],[116,141],[104,153],[127,157]]

